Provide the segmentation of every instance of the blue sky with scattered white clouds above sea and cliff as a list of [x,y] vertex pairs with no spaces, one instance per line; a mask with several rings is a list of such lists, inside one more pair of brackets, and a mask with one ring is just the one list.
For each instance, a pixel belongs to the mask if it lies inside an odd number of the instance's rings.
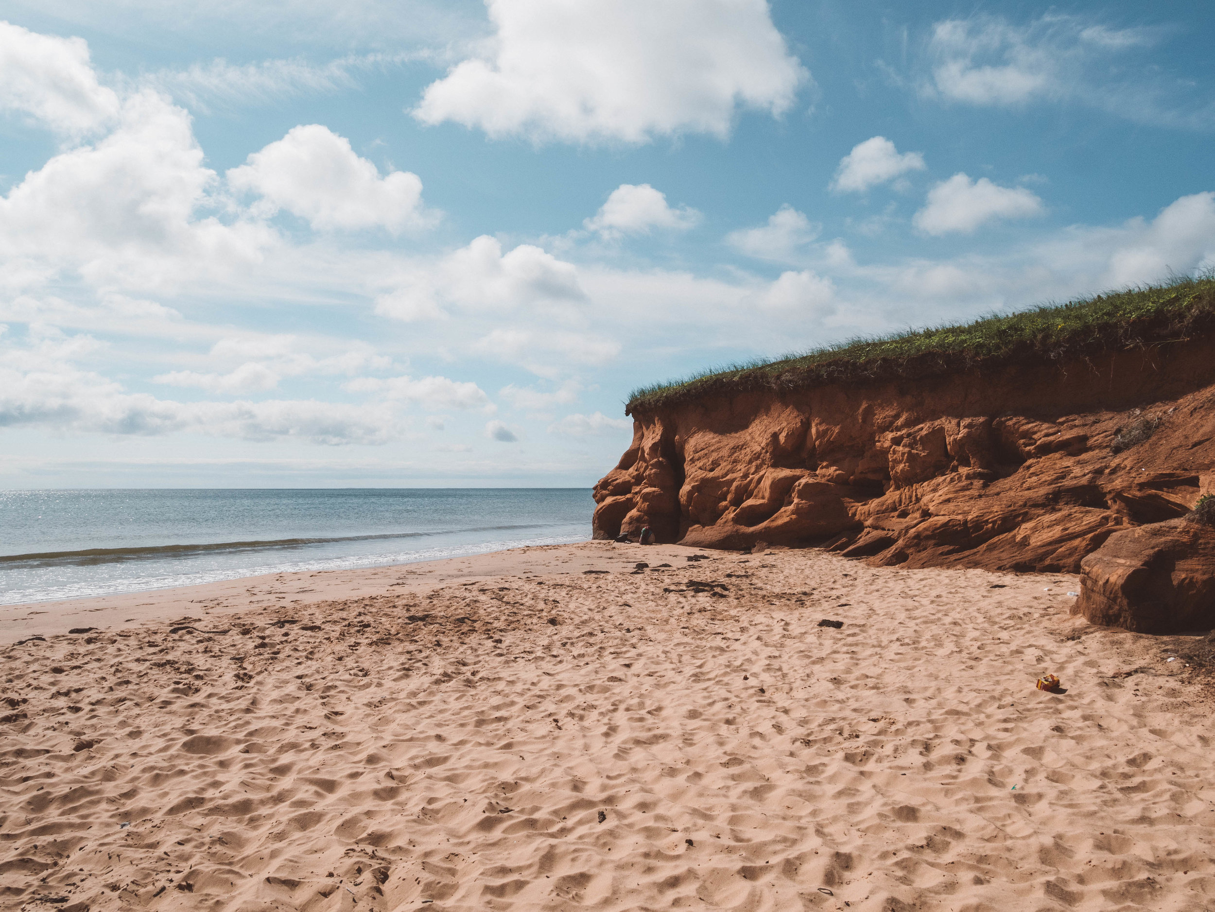
[[582,486],[631,389],[1215,266],[1175,2],[0,2],[0,487]]

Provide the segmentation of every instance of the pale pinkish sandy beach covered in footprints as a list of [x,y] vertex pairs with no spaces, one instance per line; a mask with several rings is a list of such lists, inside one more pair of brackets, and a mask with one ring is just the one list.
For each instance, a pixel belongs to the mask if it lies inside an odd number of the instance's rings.
[[1205,678],[1078,588],[595,542],[7,606],[0,908],[1215,908]]

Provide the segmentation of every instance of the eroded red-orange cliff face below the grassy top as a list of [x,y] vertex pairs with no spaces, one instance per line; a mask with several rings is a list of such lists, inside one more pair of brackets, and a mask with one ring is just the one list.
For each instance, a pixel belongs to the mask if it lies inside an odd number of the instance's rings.
[[1113,532],[1215,493],[1213,384],[1198,340],[643,412],[595,486],[594,534],[1078,572]]

